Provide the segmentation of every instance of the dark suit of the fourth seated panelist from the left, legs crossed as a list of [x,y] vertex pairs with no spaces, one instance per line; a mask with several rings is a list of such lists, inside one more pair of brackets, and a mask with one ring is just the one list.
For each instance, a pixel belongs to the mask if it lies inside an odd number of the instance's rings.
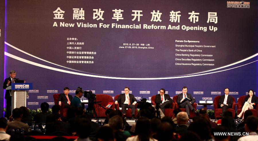
[[195,103],[195,99],[193,98],[193,96],[191,94],[186,93],[186,96],[187,96],[187,98],[190,99],[190,101],[185,101],[185,102],[181,103],[180,101],[183,98],[183,93],[178,94],[178,96],[177,96],[177,104],[178,104],[179,108],[185,108],[187,115],[190,116],[190,110],[193,111],[192,104]]

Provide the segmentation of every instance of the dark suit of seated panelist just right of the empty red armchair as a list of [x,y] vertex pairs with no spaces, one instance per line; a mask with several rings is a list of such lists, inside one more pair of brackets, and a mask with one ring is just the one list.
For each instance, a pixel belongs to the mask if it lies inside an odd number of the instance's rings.
[[119,103],[119,107],[122,108],[122,113],[123,114],[126,114],[126,108],[131,108],[132,111],[132,115],[134,115],[135,113],[135,105],[132,105],[132,103],[134,103],[136,100],[136,98],[134,97],[133,94],[129,94],[129,100],[130,100],[130,105],[128,104],[124,104],[124,102],[126,101],[126,97],[125,97],[125,94],[120,94],[118,96],[118,98],[116,99],[116,101]]

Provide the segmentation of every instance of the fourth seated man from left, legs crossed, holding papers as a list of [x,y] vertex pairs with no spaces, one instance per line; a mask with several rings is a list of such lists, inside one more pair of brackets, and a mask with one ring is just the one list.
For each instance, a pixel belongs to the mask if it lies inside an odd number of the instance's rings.
[[[190,117],[190,110],[195,111],[195,109],[192,106],[192,104],[195,103],[195,99],[191,96],[191,94],[187,93],[186,86],[183,87],[182,92],[183,93],[181,93],[177,96],[177,104],[178,104],[179,108],[185,108],[188,117]],[[185,98],[189,98],[190,100],[184,101]]]

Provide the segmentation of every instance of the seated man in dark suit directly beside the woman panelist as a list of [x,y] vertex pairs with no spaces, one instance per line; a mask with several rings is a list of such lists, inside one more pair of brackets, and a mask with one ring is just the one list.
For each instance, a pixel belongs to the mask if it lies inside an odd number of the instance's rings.
[[228,95],[229,89],[224,89],[225,95],[220,96],[220,100],[218,101],[219,108],[222,108],[222,113],[226,111],[228,108],[232,108],[233,105],[233,98],[232,96]]

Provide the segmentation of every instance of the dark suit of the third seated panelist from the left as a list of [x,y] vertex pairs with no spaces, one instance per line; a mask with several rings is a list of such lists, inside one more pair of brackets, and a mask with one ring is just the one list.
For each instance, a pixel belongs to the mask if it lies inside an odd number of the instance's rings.
[[172,108],[172,105],[171,103],[173,103],[173,99],[170,98],[170,96],[168,94],[164,94],[164,100],[169,100],[163,104],[162,101],[161,101],[161,95],[160,94],[157,94],[156,95],[156,98],[155,98],[155,103],[156,103],[156,106],[159,105],[159,108],[161,109],[161,111],[165,114],[165,108]]

